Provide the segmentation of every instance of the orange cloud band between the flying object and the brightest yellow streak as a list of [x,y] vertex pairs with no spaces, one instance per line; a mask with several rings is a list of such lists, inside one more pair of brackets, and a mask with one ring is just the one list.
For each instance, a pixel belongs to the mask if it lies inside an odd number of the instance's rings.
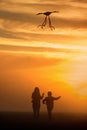
[[[28,28],[27,28],[28,29]],[[57,28],[56,28],[57,29]],[[0,36],[2,38],[9,38],[9,39],[20,39],[21,42],[48,42],[48,43],[64,43],[64,40],[68,42],[70,42],[70,40],[75,39],[75,40],[82,40],[82,39],[86,39],[86,36],[80,36],[79,35],[67,35],[66,33],[64,34],[50,34],[47,32],[44,33],[43,30],[41,30],[41,32],[38,33],[38,28],[36,28],[35,30],[31,30],[29,33],[28,32],[18,32],[15,30],[15,26],[13,28],[13,30],[9,31],[8,29],[0,29]],[[23,40],[23,41],[22,41]]]

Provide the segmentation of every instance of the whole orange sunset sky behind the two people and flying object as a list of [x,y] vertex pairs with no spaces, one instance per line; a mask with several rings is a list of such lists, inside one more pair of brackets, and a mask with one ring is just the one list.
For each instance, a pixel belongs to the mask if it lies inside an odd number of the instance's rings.
[[0,111],[31,111],[39,86],[62,96],[54,111],[87,113],[87,0],[0,0],[0,61]]

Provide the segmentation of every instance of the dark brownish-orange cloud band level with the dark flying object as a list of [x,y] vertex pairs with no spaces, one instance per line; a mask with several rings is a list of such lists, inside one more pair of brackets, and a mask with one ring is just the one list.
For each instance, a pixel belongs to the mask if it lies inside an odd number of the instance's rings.
[[[76,11],[77,16],[74,16],[75,11],[72,12],[72,17],[69,16],[70,14],[65,14],[64,12],[60,12],[58,15],[51,16],[52,21],[54,22],[55,26],[58,28],[87,28],[87,19],[85,18],[85,13],[83,11],[79,12]],[[80,16],[81,15],[81,18]],[[65,17],[66,16],[66,17]],[[79,17],[78,17],[79,16]],[[77,18],[76,18],[77,17]],[[0,19],[3,19],[5,22],[2,23],[2,26],[5,26],[6,28],[10,28],[10,26],[14,27],[14,24],[21,27],[24,25],[24,27],[29,26],[31,29],[32,25],[39,25],[42,23],[44,16],[36,16],[35,14],[32,15],[32,13],[18,13],[18,12],[11,12],[11,11],[5,11],[0,10]],[[41,21],[41,22],[40,22]],[[8,24],[7,24],[8,23]],[[7,26],[6,26],[7,25]]]

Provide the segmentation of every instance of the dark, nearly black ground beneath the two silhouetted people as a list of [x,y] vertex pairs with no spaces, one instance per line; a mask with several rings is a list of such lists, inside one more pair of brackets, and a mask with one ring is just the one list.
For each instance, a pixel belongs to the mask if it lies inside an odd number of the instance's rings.
[[48,120],[47,114],[40,115],[39,120],[32,118],[32,113],[0,112],[0,130],[2,129],[44,129],[44,130],[87,130],[86,114],[54,114]]

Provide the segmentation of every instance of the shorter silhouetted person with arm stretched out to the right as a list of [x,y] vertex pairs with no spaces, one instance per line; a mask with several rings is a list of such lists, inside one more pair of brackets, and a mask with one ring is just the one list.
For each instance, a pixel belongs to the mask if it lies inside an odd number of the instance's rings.
[[47,106],[47,112],[48,112],[49,119],[52,119],[52,110],[54,107],[54,100],[58,100],[58,99],[60,99],[60,97],[61,96],[53,97],[52,92],[48,91],[48,96],[43,99],[43,104],[46,104],[46,106]]

